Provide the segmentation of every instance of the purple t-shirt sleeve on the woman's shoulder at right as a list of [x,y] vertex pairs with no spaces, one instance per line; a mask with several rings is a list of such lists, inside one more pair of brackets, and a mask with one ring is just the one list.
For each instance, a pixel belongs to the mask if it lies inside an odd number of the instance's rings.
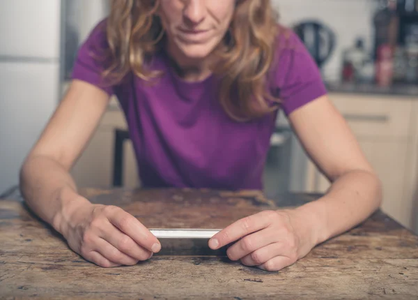
[[290,29],[280,33],[278,38],[270,84],[286,115],[327,93],[316,62]]

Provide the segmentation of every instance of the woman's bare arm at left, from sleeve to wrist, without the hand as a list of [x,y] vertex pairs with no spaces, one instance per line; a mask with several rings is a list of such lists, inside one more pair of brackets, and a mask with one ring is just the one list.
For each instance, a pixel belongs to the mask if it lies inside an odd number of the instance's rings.
[[59,232],[64,211],[87,202],[77,194],[70,169],[108,103],[109,96],[104,91],[86,82],[72,82],[22,165],[20,189],[26,203]]

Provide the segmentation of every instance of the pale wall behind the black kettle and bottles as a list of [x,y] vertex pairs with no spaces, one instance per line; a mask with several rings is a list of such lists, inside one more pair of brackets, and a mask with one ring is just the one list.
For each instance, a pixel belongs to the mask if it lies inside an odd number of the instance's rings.
[[336,33],[337,45],[332,58],[323,68],[323,77],[334,81],[341,74],[341,52],[364,38],[366,49],[373,43],[373,0],[272,0],[279,11],[279,22],[291,26],[302,20],[319,20]]

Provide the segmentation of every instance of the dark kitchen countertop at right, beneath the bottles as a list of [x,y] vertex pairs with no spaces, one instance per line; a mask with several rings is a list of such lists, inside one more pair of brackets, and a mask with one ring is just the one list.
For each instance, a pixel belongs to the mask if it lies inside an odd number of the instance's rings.
[[325,82],[327,90],[334,93],[364,93],[386,96],[416,96],[418,99],[418,85],[394,84],[392,87],[378,87],[367,83],[335,83]]

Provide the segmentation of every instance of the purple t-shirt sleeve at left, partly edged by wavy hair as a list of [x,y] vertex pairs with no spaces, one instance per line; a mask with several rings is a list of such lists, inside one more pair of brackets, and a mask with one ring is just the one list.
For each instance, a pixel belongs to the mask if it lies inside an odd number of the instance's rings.
[[106,66],[104,51],[109,49],[106,37],[106,20],[99,22],[79,47],[72,68],[72,79],[93,84],[111,96],[114,93],[114,87],[107,84],[102,77]]

